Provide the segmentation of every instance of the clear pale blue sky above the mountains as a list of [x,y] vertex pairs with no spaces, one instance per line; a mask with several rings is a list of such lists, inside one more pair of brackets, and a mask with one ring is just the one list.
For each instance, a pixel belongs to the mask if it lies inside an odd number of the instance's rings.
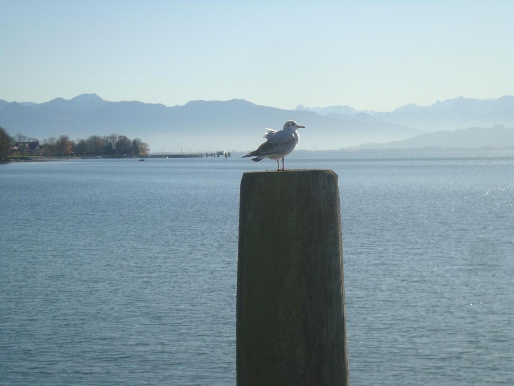
[[389,111],[514,94],[514,1],[0,0],[0,98]]

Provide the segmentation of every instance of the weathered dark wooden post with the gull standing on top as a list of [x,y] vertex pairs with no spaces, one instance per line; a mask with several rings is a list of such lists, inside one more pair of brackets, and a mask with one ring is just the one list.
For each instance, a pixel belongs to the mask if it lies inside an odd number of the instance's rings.
[[337,175],[241,181],[237,385],[348,385]]

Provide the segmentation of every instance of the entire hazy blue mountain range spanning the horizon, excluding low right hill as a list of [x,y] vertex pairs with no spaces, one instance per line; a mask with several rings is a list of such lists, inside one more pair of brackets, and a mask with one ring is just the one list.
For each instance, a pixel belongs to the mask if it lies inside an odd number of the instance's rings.
[[[39,139],[68,135],[124,134],[140,137],[152,151],[250,150],[269,127],[280,130],[293,119],[305,126],[299,148],[336,149],[363,143],[398,141],[418,134],[468,127],[514,126],[514,97],[456,98],[392,112],[358,111],[348,106],[294,110],[260,106],[243,99],[190,101],[183,106],[138,101],[112,102],[96,94],[48,102],[0,99],[0,126],[13,135]],[[480,146],[480,144],[478,144]]]

